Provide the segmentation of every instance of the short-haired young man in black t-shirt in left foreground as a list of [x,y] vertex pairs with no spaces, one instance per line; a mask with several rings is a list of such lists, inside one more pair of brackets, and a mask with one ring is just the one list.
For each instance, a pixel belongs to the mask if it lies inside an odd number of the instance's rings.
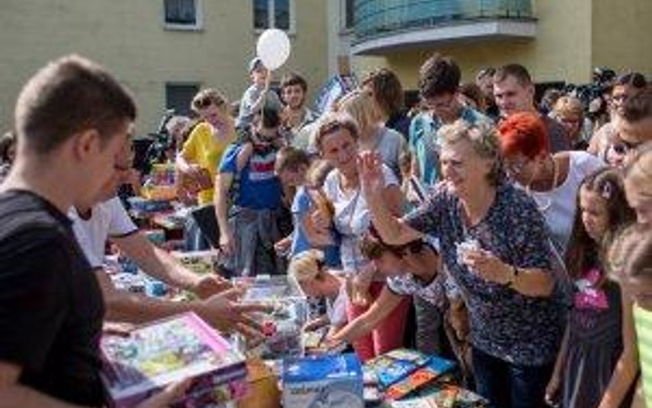
[[135,105],[104,69],[69,56],[30,79],[15,112],[17,158],[0,184],[0,404],[99,407],[102,295],[65,214],[113,175]]

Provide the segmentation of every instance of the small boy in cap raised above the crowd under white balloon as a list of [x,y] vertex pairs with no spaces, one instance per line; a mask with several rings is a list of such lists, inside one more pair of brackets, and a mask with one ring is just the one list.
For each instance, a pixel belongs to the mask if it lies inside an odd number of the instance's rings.
[[255,57],[249,62],[249,76],[252,85],[242,94],[240,109],[235,126],[238,128],[248,127],[254,114],[260,112],[263,106],[272,107],[281,111],[281,100],[279,95],[272,90],[270,92],[270,72],[263,64],[261,58]]

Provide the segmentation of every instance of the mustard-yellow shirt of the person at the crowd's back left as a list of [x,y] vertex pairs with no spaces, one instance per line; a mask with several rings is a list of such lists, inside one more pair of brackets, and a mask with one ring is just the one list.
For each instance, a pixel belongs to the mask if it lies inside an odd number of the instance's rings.
[[[199,164],[200,167],[208,170],[211,180],[215,180],[222,153],[233,140],[235,140],[235,133],[230,133],[228,136],[220,134],[214,136],[213,127],[202,122],[193,129],[181,154],[188,162]],[[213,189],[199,191],[197,202],[199,205],[213,202]]]

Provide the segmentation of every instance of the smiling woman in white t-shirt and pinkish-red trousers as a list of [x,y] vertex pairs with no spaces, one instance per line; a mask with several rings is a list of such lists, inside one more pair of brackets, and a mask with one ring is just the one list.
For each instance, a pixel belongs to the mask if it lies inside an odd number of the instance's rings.
[[[323,118],[316,133],[315,145],[321,157],[333,165],[323,190],[335,208],[332,219],[317,212],[316,224],[331,226],[340,234],[342,265],[351,278],[351,293],[347,316],[355,319],[364,313],[369,304],[378,297],[384,286],[382,277],[374,277],[371,261],[360,250],[360,241],[369,230],[369,209],[360,192],[358,175],[358,127],[356,122],[343,114]],[[400,214],[402,195],[398,180],[388,167],[384,167],[382,196],[389,211]],[[354,341],[353,345],[362,360],[388,352],[402,345],[404,321],[409,300],[396,308],[382,325],[367,336]]]

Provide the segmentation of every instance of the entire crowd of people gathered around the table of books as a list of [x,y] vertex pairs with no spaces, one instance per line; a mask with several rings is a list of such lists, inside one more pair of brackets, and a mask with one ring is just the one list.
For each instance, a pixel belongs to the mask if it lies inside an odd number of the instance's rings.
[[[168,123],[177,195],[193,208],[186,249],[219,253],[204,277],[147,241],[116,197],[134,178],[129,92],[78,56],[25,85],[0,139],[0,400],[100,406],[105,320],[191,310],[256,337],[248,312],[265,305],[239,303],[229,279],[290,274],[311,302],[307,329],[327,325],[325,347],[350,344],[362,361],[412,344],[454,358],[499,408],[652,404],[642,74],[613,76],[599,101],[556,90],[539,105],[522,65],[461,83],[435,54],[414,107],[382,68],[318,114],[300,74],[276,92],[258,58],[248,71],[238,105],[202,89],[195,117]],[[116,289],[107,241],[197,300]]]

